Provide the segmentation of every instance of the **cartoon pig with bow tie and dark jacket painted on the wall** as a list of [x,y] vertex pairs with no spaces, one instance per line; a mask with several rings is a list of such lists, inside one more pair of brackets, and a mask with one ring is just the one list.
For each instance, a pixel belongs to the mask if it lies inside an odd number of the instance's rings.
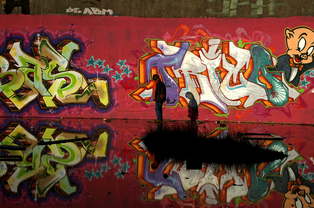
[[275,67],[268,67],[269,71],[284,71],[288,83],[298,86],[300,76],[307,70],[314,68],[312,58],[314,49],[314,31],[307,27],[286,28],[287,52],[278,57]]

